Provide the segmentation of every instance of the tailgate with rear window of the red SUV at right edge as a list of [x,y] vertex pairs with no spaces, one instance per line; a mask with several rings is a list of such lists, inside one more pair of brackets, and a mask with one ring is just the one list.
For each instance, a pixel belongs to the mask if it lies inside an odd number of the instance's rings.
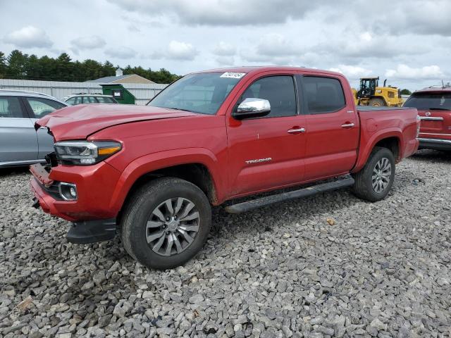
[[404,107],[418,110],[420,137],[451,139],[451,90],[414,93]]

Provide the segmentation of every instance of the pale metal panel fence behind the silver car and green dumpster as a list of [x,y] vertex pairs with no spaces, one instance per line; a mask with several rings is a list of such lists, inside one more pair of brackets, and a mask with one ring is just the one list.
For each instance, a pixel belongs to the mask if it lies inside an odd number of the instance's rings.
[[[136,98],[135,103],[144,105],[156,94],[167,86],[167,84],[141,84],[123,83]],[[78,93],[101,93],[101,86],[97,82],[62,82],[62,81],[35,81],[35,80],[8,80],[0,79],[0,89],[30,90],[49,94],[56,99]]]

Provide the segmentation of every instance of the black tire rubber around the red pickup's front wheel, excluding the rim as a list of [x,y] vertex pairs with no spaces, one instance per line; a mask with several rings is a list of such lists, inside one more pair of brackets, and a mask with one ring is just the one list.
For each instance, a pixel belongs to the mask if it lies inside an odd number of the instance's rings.
[[[162,179],[164,180],[164,179]],[[137,205],[130,211],[128,221],[130,226],[130,244],[132,254],[140,263],[156,269],[174,268],[183,265],[195,256],[204,246],[211,226],[211,207],[205,194],[190,182],[178,180],[160,186],[159,189],[142,189],[138,194],[144,198],[138,200]],[[167,199],[183,197],[192,201],[199,211],[199,232],[193,242],[183,252],[173,256],[161,256],[152,251],[147,244],[146,224],[152,211]]]

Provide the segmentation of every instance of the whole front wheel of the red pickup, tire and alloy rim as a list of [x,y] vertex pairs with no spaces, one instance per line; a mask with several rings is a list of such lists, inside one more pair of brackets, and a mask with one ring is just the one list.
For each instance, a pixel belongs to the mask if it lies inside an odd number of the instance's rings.
[[211,206],[204,192],[185,180],[164,177],[130,197],[121,218],[121,239],[125,251],[143,265],[170,269],[202,249],[210,227]]

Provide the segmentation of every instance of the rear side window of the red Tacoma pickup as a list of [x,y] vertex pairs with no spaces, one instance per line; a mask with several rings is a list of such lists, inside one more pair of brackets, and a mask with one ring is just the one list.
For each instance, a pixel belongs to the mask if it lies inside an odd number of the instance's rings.
[[302,78],[302,84],[309,113],[333,113],[346,106],[345,94],[338,79],[306,76]]

